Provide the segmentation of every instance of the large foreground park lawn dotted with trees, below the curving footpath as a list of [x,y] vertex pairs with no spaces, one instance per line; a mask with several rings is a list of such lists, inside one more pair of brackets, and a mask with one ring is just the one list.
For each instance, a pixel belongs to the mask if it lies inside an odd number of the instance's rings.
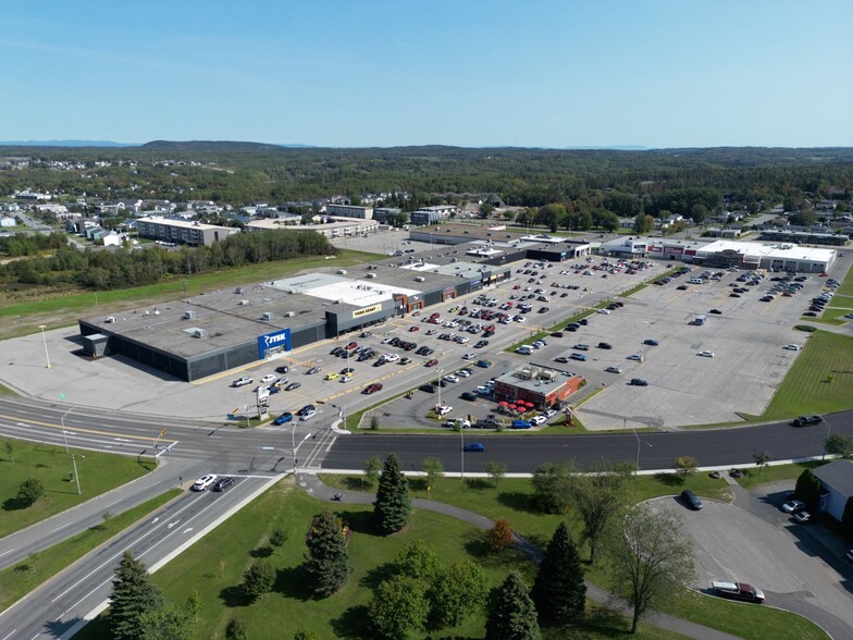
[[[264,493],[237,515],[154,574],[170,602],[181,603],[194,589],[202,601],[193,638],[222,638],[228,620],[238,618],[247,626],[248,637],[287,639],[299,629],[310,629],[323,640],[334,638],[371,638],[366,627],[366,606],[371,587],[382,577],[383,567],[394,561],[404,544],[421,539],[433,544],[446,564],[473,558],[497,584],[514,569],[531,583],[533,565],[516,551],[502,555],[483,552],[481,533],[453,518],[431,512],[415,512],[410,525],[400,533],[379,537],[371,528],[372,508],[368,505],[335,505],[335,513],[353,531],[349,552],[355,573],[346,587],[335,595],[314,600],[302,586],[299,566],[306,553],[305,533],[312,516],[326,506],[301,491],[282,483]],[[269,536],[282,528],[288,540],[281,552],[269,545]],[[254,558],[267,557],[277,570],[274,591],[254,604],[244,602],[236,586]],[[413,633],[411,638],[482,638],[484,615],[478,614],[465,624],[433,633]],[[622,637],[630,625],[626,618],[595,607],[590,619],[577,629],[545,629],[543,637],[580,639]],[[104,638],[103,618],[88,625],[76,636],[82,640]],[[641,639],[676,639],[677,633],[642,625]]]

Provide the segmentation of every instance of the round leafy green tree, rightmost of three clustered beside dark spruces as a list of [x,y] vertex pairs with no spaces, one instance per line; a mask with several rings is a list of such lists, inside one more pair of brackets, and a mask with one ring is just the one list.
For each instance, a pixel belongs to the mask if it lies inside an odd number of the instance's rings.
[[469,561],[450,565],[426,592],[430,624],[436,629],[456,627],[483,606],[489,593],[483,569]]

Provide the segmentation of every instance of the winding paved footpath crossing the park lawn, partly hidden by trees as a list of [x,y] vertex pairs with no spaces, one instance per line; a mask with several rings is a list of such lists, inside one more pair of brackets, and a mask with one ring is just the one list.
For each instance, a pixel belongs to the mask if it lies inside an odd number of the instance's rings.
[[[334,502],[335,493],[342,495],[341,502],[350,504],[372,504],[373,494],[364,493],[362,491],[347,491],[336,490],[323,484],[323,482],[314,475],[301,473],[299,476],[299,487],[319,500],[327,500]],[[449,504],[435,502],[432,500],[423,500],[416,497],[411,501],[412,506],[424,510],[436,512],[468,522],[479,529],[491,529],[494,522],[473,512],[461,509]],[[530,558],[539,563],[542,561],[542,550],[536,545],[531,544],[523,538],[516,537],[516,546],[527,553]],[[605,591],[597,584],[586,581],[586,596],[591,600],[604,604],[610,608],[615,608],[626,616],[631,616],[631,607],[623,600],[616,598],[613,593]],[[662,629],[668,629],[677,633],[681,633],[688,638],[697,638],[700,640],[734,640],[737,636],[730,636],[709,627],[704,627],[690,620],[684,620],[666,614],[652,614],[651,620],[655,626]]]

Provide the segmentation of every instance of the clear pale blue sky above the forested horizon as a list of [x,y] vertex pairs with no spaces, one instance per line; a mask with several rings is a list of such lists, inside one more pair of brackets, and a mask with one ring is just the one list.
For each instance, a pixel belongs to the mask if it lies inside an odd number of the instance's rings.
[[853,1],[0,3],[0,139],[853,146]]

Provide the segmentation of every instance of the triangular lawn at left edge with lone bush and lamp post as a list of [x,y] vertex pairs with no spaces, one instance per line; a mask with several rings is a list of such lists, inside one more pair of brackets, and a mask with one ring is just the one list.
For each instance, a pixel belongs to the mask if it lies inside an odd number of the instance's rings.
[[[7,448],[10,444],[11,454]],[[0,538],[91,500],[156,468],[150,458],[71,451],[77,454],[77,473],[83,495],[77,495],[76,482],[69,480],[72,460],[64,448],[0,438]],[[45,496],[33,506],[21,508],[16,499],[17,489],[27,478],[41,481]]]

